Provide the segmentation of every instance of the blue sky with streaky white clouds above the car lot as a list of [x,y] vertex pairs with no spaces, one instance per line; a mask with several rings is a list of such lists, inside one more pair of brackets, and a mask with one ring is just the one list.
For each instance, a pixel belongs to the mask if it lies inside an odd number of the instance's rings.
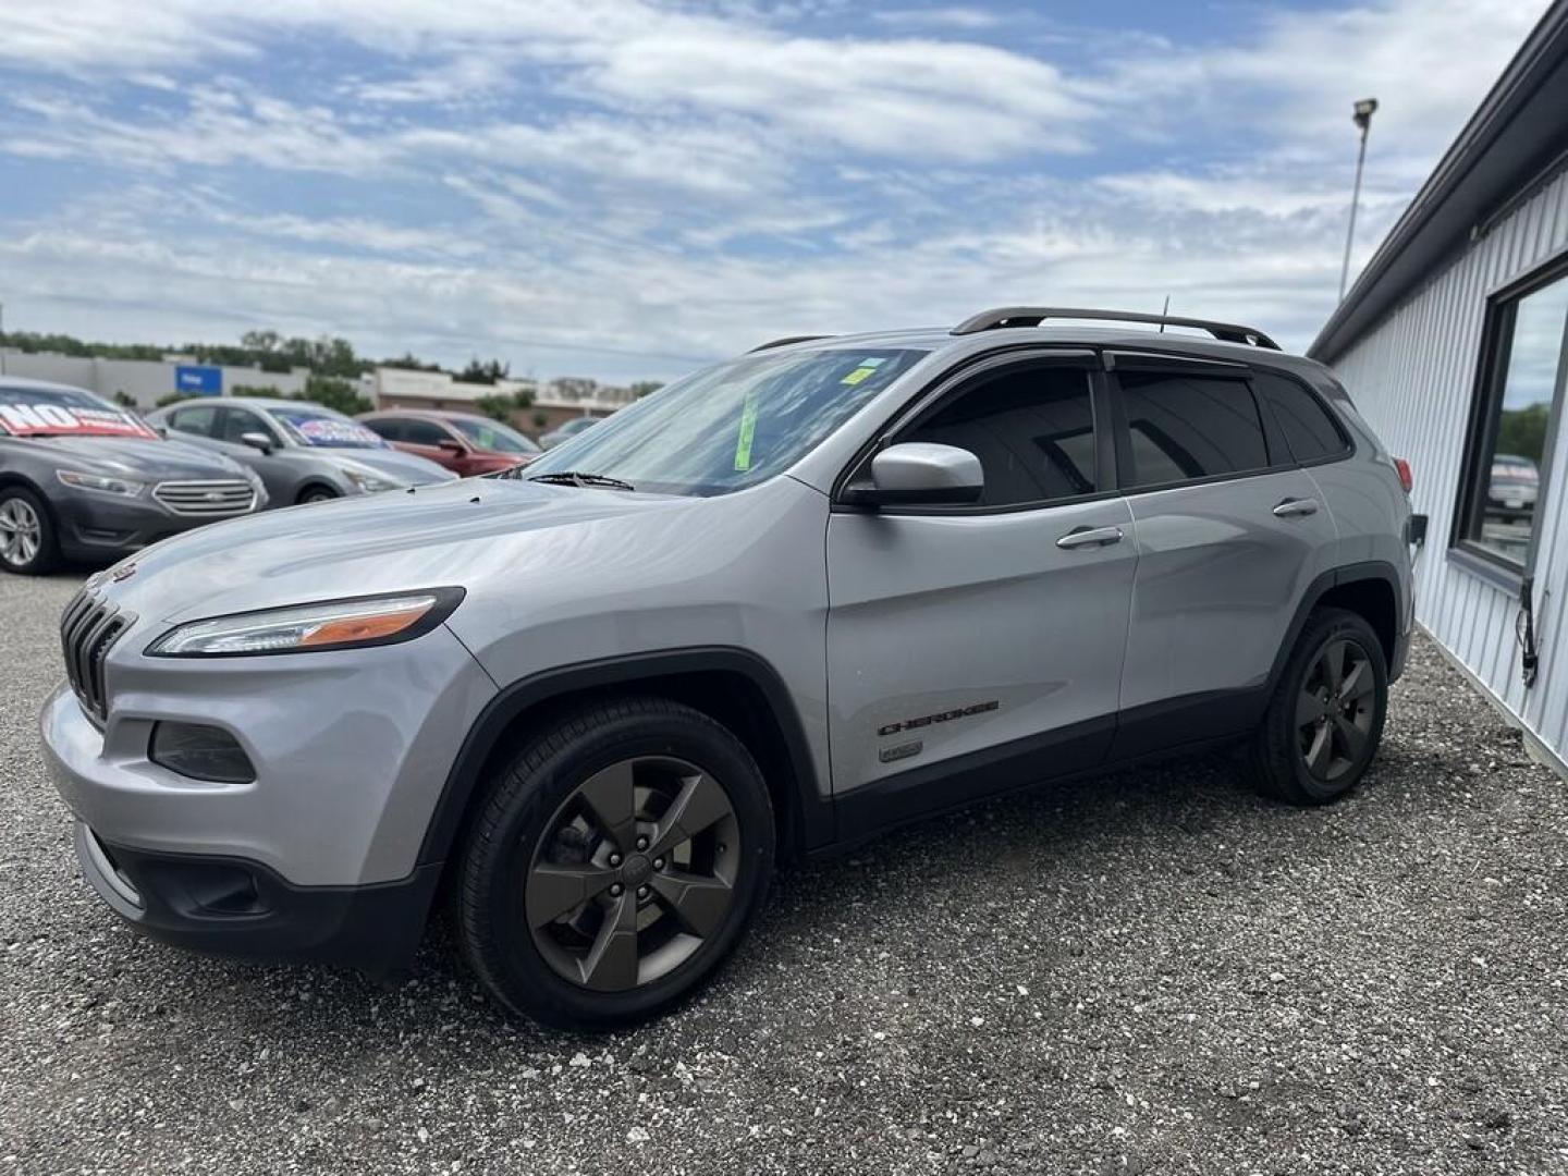
[[1541,0],[6,0],[5,326],[666,379],[1033,303],[1305,348]]

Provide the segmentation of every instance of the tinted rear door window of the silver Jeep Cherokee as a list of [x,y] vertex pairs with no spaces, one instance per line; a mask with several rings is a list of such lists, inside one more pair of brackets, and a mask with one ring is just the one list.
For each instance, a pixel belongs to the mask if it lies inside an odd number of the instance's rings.
[[1124,372],[1118,383],[1127,486],[1163,486],[1269,464],[1258,405],[1243,381]]

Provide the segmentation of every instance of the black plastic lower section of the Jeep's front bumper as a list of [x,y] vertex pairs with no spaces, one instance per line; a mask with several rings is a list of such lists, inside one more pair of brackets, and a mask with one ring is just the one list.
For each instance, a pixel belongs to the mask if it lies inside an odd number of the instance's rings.
[[259,862],[147,853],[75,826],[82,873],[138,931],[174,947],[312,960],[372,974],[408,967],[441,866],[379,886],[292,886]]

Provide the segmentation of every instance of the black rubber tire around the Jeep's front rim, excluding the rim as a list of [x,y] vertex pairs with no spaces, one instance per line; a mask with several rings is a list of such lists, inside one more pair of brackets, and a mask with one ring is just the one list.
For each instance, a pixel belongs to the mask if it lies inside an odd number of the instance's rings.
[[[533,862],[546,825],[572,790],[601,768],[635,756],[674,756],[718,781],[735,812],[742,862],[724,925],[691,958],[627,993],[596,993],[563,978],[539,953],[527,927],[519,872]],[[756,764],[723,728],[679,712],[616,720],[572,739],[517,784],[489,844],[470,856],[477,886],[467,891],[488,916],[483,964],[516,1011],[560,1025],[649,1016],[693,993],[745,935],[773,873],[773,814]]]

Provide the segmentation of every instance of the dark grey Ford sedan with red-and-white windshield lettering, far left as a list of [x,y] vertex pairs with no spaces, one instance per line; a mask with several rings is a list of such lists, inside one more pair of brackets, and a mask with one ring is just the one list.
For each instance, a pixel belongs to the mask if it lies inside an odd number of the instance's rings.
[[260,480],[165,441],[107,400],[0,376],[0,568],[38,575],[61,558],[110,561],[267,503]]

